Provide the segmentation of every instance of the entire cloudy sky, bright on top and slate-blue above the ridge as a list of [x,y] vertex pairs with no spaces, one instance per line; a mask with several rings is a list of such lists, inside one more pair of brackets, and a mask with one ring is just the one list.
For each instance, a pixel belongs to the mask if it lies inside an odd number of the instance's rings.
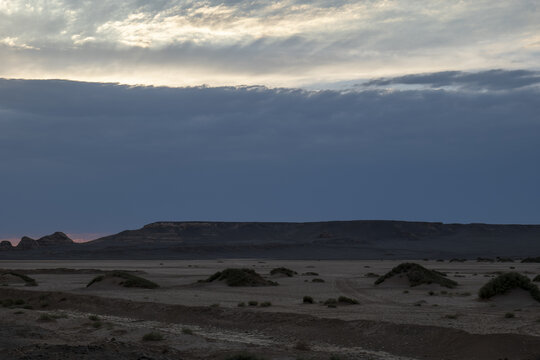
[[0,2],[0,239],[540,223],[537,1]]

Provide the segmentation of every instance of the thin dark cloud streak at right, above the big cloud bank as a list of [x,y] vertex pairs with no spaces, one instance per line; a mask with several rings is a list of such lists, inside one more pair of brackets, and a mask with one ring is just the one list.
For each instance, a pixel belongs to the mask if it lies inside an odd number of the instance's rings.
[[476,73],[443,71],[368,81],[365,86],[427,85],[433,88],[455,86],[468,89],[513,90],[540,85],[540,72],[532,70],[488,70]]

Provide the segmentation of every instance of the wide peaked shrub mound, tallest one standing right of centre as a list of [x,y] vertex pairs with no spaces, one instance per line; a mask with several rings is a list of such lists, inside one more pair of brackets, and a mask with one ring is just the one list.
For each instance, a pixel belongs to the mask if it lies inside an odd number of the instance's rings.
[[396,266],[385,275],[375,280],[375,285],[379,285],[385,280],[400,274],[407,276],[410,286],[439,284],[447,288],[453,288],[457,285],[457,282],[446,278],[445,274],[439,271],[426,269],[422,265],[416,263],[403,263]]

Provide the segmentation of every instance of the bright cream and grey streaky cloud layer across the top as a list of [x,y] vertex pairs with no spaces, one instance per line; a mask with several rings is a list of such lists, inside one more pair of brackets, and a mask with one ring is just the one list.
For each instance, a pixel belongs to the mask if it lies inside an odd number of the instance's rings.
[[538,70],[536,1],[5,0],[0,77],[331,87]]

